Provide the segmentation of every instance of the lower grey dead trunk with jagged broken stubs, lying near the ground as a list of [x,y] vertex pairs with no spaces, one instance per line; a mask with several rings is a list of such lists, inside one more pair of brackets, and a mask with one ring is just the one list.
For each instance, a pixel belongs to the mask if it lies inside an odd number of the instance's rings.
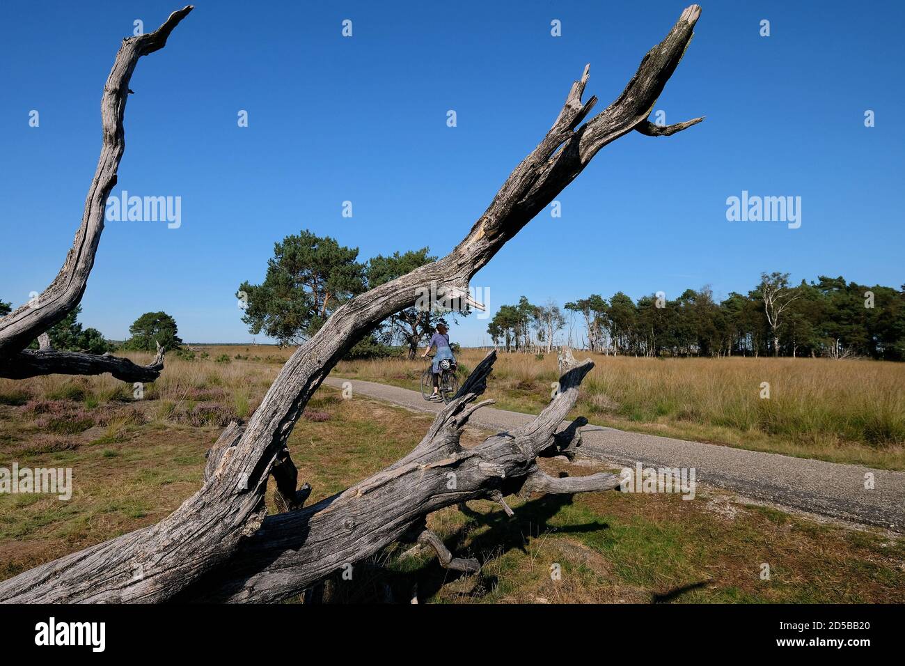
[[[268,516],[261,528],[221,570],[188,586],[177,601],[272,603],[300,594],[330,574],[352,567],[419,527],[419,543],[429,545],[448,568],[475,572],[475,560],[455,558],[424,528],[428,515],[470,499],[494,499],[530,492],[567,493],[609,490],[620,485],[613,474],[552,478],[537,458],[560,455],[577,445],[576,427],[555,437],[576,403],[578,387],[594,367],[578,364],[560,380],[560,391],[537,419],[502,432],[473,449],[460,443],[486,387],[496,352],[475,368],[462,390],[433,420],[421,443],[405,458],[348,490],[316,505]],[[214,472],[216,473],[216,472]]]

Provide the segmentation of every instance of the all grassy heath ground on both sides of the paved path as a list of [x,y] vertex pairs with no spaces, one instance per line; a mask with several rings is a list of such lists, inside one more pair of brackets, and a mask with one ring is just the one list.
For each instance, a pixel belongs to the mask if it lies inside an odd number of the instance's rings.
[[[252,414],[290,352],[224,345],[194,358],[170,354],[140,399],[110,376],[0,381],[0,467],[72,468],[74,486],[69,501],[0,495],[0,578],[153,524],[178,507],[201,483],[205,450],[225,423]],[[482,353],[462,352],[462,370]],[[591,420],[900,467],[898,365],[595,361],[578,405]],[[345,362],[337,372],[416,388],[421,368]],[[488,392],[500,407],[538,410],[555,379],[555,358],[503,354]],[[761,381],[771,382],[768,400],[758,397]],[[718,421],[720,410],[732,420]],[[311,501],[329,497],[401,458],[430,421],[363,397],[343,400],[324,387],[291,435],[300,482],[312,485]],[[485,434],[470,429],[464,443]],[[600,469],[546,464],[572,475]],[[459,579],[434,558],[403,556],[407,546],[396,545],[372,558],[365,581],[335,581],[332,598],[383,600],[389,590],[407,601],[417,584],[422,602],[905,601],[900,536],[818,524],[712,489],[692,501],[618,492],[510,500],[513,519],[485,501],[430,518],[457,555],[481,560],[480,577]]]

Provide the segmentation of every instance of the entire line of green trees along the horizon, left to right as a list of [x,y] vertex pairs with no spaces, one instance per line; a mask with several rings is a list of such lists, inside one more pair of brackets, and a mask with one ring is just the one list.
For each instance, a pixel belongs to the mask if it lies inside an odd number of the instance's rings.
[[[308,230],[274,246],[260,285],[239,286],[243,322],[253,334],[298,344],[316,333],[339,305],[432,262],[427,247],[358,260],[358,248]],[[710,287],[687,289],[678,298],[646,295],[633,301],[623,292],[590,294],[560,308],[531,304],[522,296],[500,306],[487,332],[506,351],[550,352],[566,342],[593,352],[648,357],[811,356],[905,360],[905,285],[900,289],[846,282],[820,275],[790,285],[787,273],[762,274],[748,294],[732,292],[716,301]],[[0,315],[10,305],[0,301]],[[55,349],[110,352],[118,345],[93,328],[83,329],[74,310],[51,329]],[[440,309],[406,308],[389,317],[349,352],[350,357],[395,355],[402,346],[414,358],[418,345],[443,316]],[[578,324],[576,326],[576,323]],[[569,324],[563,340],[563,329]],[[119,348],[154,351],[182,344],[170,315],[142,314]],[[37,347],[37,341],[32,345]]]

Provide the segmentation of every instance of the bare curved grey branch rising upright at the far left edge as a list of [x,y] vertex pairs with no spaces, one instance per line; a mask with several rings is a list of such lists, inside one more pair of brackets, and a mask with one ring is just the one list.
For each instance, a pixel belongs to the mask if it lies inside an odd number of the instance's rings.
[[[16,308],[0,318],[0,358],[23,350],[40,333],[47,331],[69,314],[81,301],[94,265],[94,256],[104,228],[104,211],[110,190],[116,185],[119,159],[125,150],[122,120],[129,97],[129,80],[138,58],[159,51],[167,44],[173,28],[192,11],[192,5],[169,15],[153,33],[127,37],[122,41],[113,69],[100,100],[100,122],[103,143],[94,179],[85,199],[81,227],[60,273],[37,299]],[[62,362],[62,361],[61,361]],[[62,371],[56,371],[62,372]],[[101,371],[107,372],[107,371]],[[71,374],[71,373],[70,373]]]

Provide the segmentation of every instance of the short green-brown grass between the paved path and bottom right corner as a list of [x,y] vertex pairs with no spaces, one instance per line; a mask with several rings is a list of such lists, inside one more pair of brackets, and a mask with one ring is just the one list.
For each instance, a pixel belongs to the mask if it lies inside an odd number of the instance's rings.
[[[574,470],[573,470],[574,471]],[[588,472],[593,469],[588,469]],[[482,562],[481,594],[439,587],[433,599],[473,603],[881,603],[905,598],[903,544],[816,525],[711,491],[691,501],[601,493],[445,509],[432,526]],[[727,510],[729,507],[729,510]],[[770,565],[769,580],[760,577]],[[558,568],[559,578],[553,575]],[[452,588],[452,589],[451,589]]]

